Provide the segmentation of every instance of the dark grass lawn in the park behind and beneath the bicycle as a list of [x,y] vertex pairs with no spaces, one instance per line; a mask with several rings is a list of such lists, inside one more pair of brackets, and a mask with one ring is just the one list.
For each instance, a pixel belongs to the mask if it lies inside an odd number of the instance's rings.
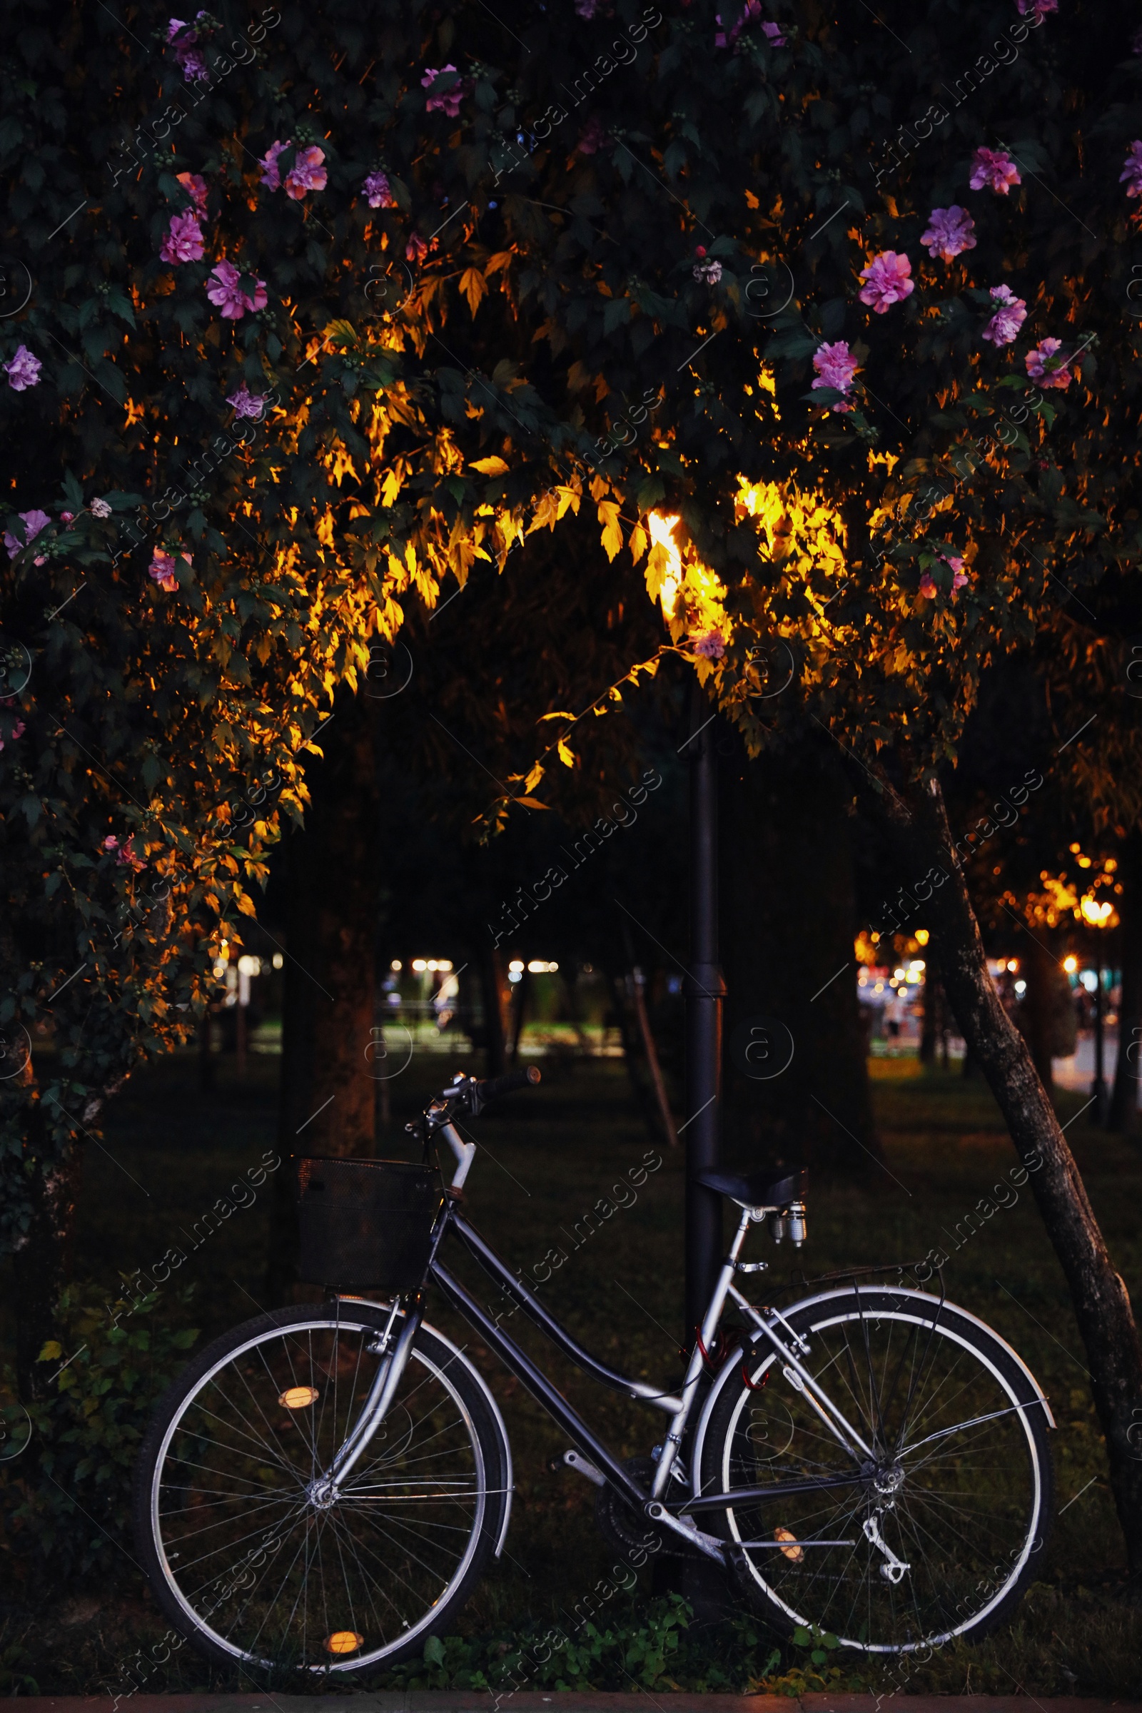
[[[481,1125],[486,1149],[469,1179],[471,1216],[512,1264],[526,1268],[541,1261],[548,1247],[562,1245],[568,1259],[546,1286],[555,1312],[604,1360],[647,1379],[676,1381],[681,1165],[664,1158],[633,1206],[620,1209],[575,1247],[575,1220],[642,1161],[649,1143],[622,1064],[550,1065],[539,1089],[515,1096],[500,1117]],[[188,1250],[180,1233],[190,1232],[236,1175],[274,1148],[276,1071],[276,1059],[253,1057],[243,1083],[224,1067],[217,1091],[200,1095],[193,1060],[176,1057],[128,1086],[108,1120],[106,1153],[87,1151],[75,1252],[80,1276],[98,1280],[110,1293],[118,1273],[151,1271],[171,1245]],[[401,1144],[404,1117],[418,1110],[442,1071],[437,1055],[416,1059],[394,1084],[392,1136]],[[945,1648],[913,1674],[907,1691],[1142,1694],[1142,1607],[1125,1585],[1125,1554],[1082,1346],[1029,1187],[959,1249],[949,1235],[1015,1163],[995,1103],[983,1084],[966,1083],[959,1074],[921,1076],[911,1060],[877,1060],[873,1079],[885,1170],[870,1167],[858,1187],[813,1184],[806,1249],[800,1256],[770,1250],[769,1278],[791,1281],[801,1268],[813,1276],[844,1264],[909,1262],[942,1245],[950,1254],[949,1297],[979,1314],[1022,1353],[1058,1422],[1053,1451],[1060,1518],[1043,1579],[1012,1626],[972,1648]],[[1063,1117],[1070,1117],[1082,1096],[1063,1093],[1060,1105]],[[1085,1127],[1082,1119],[1067,1134],[1115,1262],[1137,1300],[1142,1158],[1130,1144]],[[401,1148],[394,1141],[385,1151],[397,1155]],[[262,1305],[267,1189],[188,1252],[175,1274],[180,1283],[195,1285],[193,1324],[204,1338]],[[485,1285],[485,1297],[486,1292]],[[158,1314],[163,1312],[159,1302]],[[178,1314],[173,1290],[170,1314]],[[430,1319],[445,1331],[461,1331],[442,1305],[430,1310]],[[10,1343],[9,1324],[2,1333]],[[598,1389],[538,1336],[534,1343],[526,1333],[522,1338],[536,1353],[543,1352],[567,1396],[622,1456],[649,1451],[661,1424],[657,1415]],[[466,1331],[462,1341],[471,1343]],[[449,1644],[455,1668],[447,1665],[445,1650],[433,1684],[440,1672],[452,1670],[449,1680],[455,1680],[457,1674],[483,1670],[481,1662],[512,1658],[517,1639],[534,1626],[560,1622],[579,1593],[606,1574],[613,1557],[594,1528],[594,1489],[565,1468],[551,1468],[565,1449],[558,1430],[478,1345],[474,1355],[505,1412],[517,1492],[507,1550],[459,1620],[459,1639]],[[94,1692],[116,1680],[127,1653],[158,1641],[164,1626],[125,1554],[122,1569],[122,1581],[110,1590],[82,1588],[38,1610],[19,1602],[0,1605],[0,1692],[5,1684],[9,1692],[27,1692],[29,1682],[45,1694]],[[657,1636],[664,1610],[649,1588],[640,1588],[630,1600],[611,1602],[610,1622],[628,1634]],[[728,1658],[729,1651],[738,1662],[736,1677],[731,1682],[723,1674],[721,1686],[745,1687],[752,1680],[758,1687],[750,1674],[769,1660],[769,1638],[757,1636],[750,1644],[741,1626],[721,1641],[693,1627],[675,1626],[675,1634],[678,1646],[663,1653],[666,1663],[654,1679],[659,1689],[717,1687],[709,1660],[719,1653]],[[647,1648],[647,1656],[657,1658],[657,1641],[639,1646],[640,1658]],[[611,1658],[606,1648],[596,1653],[598,1668],[589,1668],[587,1680],[601,1687],[608,1674],[618,1672],[615,1687],[622,1687],[627,1672],[622,1646],[615,1655],[618,1665],[606,1665]],[[889,1680],[866,1662],[841,1663],[875,1686]],[[782,1667],[774,1670],[784,1672],[786,1687],[796,1689],[806,1682],[798,1677],[803,1665],[796,1650],[786,1650]],[[144,1687],[248,1684],[228,1680],[187,1650]],[[633,1679],[627,1687],[633,1687]]]

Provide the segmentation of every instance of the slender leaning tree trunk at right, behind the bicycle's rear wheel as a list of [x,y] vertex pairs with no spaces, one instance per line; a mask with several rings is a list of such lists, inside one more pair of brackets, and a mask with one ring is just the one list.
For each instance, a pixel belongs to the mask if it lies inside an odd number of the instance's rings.
[[[868,793],[901,838],[911,887],[938,946],[940,970],[961,1033],[995,1095],[1067,1276],[1092,1374],[1118,1521],[1132,1574],[1142,1574],[1142,1459],[1133,1444],[1142,1424],[1142,1343],[1127,1286],[1113,1268],[1075,1160],[1022,1035],[1007,1016],[979,935],[962,870],[952,856],[943,795],[919,790],[906,803],[887,783]],[[923,877],[923,879],[921,879]]]

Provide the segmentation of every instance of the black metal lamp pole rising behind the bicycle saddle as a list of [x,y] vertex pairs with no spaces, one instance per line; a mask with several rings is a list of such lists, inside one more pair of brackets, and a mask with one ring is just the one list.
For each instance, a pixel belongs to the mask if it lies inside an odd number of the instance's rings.
[[687,1343],[723,1262],[723,1199],[695,1184],[721,1165],[721,1035],[726,985],[717,963],[717,761],[714,707],[690,702],[690,970],[687,975]]

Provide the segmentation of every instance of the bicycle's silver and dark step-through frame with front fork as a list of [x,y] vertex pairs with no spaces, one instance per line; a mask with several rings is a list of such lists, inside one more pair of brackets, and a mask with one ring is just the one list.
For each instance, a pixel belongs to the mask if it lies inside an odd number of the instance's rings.
[[[834,1439],[844,1447],[844,1451],[853,1459],[851,1477],[834,1477],[830,1480],[820,1482],[791,1482],[776,1483],[765,1489],[758,1489],[758,1497],[777,1497],[782,1492],[803,1492],[806,1487],[846,1487],[858,1485],[861,1482],[861,1463],[873,1459],[871,1447],[863,1441],[856,1429],[846,1420],[841,1410],[832,1403],[827,1393],[820,1388],[815,1377],[803,1367],[801,1355],[808,1353],[805,1341],[793,1331],[786,1322],[784,1316],[777,1309],[767,1309],[765,1312],[757,1310],[735,1286],[735,1273],[738,1269],[738,1256],[745,1242],[746,1232],[752,1223],[765,1218],[767,1213],[777,1211],[770,1208],[743,1208],[741,1218],[738,1221],[738,1230],[729,1245],[729,1254],[721,1268],[717,1283],[711,1293],[705,1316],[702,1319],[702,1328],[695,1340],[693,1350],[687,1364],[685,1381],[681,1384],[680,1394],[659,1393],[645,1381],[630,1379],[620,1374],[616,1369],[610,1369],[604,1362],[599,1362],[591,1355],[568,1331],[556,1321],[556,1317],[539,1302],[536,1293],[522,1283],[495,1254],[493,1249],[485,1244],[479,1233],[467,1223],[467,1220],[459,1213],[457,1203],[461,1199],[461,1189],[471,1163],[476,1156],[476,1144],[464,1143],[457,1134],[452,1122],[442,1122],[437,1125],[438,1134],[449,1143],[452,1153],[457,1158],[457,1170],[452,1179],[452,1185],[445,1194],[443,1206],[437,1216],[437,1223],[431,1233],[431,1250],[428,1261],[426,1280],[440,1286],[447,1300],[452,1304],[459,1314],[481,1334],[485,1343],[495,1350],[503,1365],[517,1376],[517,1379],[527,1388],[527,1391],[536,1398],[538,1403],[548,1412],[548,1415],[558,1422],[558,1425],[572,1439],[574,1446],[589,1459],[594,1466],[592,1475],[601,1482],[615,1487],[623,1499],[633,1506],[635,1513],[645,1514],[651,1521],[663,1528],[681,1535],[692,1547],[705,1554],[717,1562],[724,1562],[724,1542],[717,1540],[714,1535],[704,1533],[692,1519],[687,1511],[692,1509],[719,1509],[726,1504],[738,1502],[753,1497],[750,1489],[741,1489],[736,1494],[700,1494],[697,1485],[697,1477],[690,1483],[693,1487],[693,1497],[685,1501],[676,1511],[668,1509],[663,1504],[663,1494],[669,1483],[671,1473],[675,1473],[675,1465],[678,1463],[678,1453],[685,1437],[687,1424],[690,1420],[693,1403],[699,1393],[699,1381],[702,1377],[702,1369],[707,1360],[707,1352],[717,1338],[717,1328],[726,1307],[726,1300],[733,1302],[757,1324],[758,1333],[765,1334],[765,1340],[774,1346],[777,1355],[784,1364],[784,1374],[789,1384],[793,1384],[800,1393],[805,1394],[808,1403],[813,1406],[822,1424],[829,1429]],[[577,1367],[591,1374],[599,1384],[611,1388],[613,1391],[627,1393],[628,1398],[635,1398],[640,1403],[652,1405],[654,1408],[664,1410],[669,1417],[669,1432],[664,1435],[663,1447],[657,1454],[657,1463],[654,1470],[654,1482],[651,1494],[647,1495],[639,1483],[630,1477],[630,1473],[618,1463],[603,1441],[594,1434],[594,1430],[582,1420],[579,1412],[563,1398],[563,1394],[551,1384],[551,1381],[543,1374],[541,1369],[531,1360],[526,1350],[522,1350],[515,1340],[502,1329],[500,1321],[503,1319],[503,1310],[493,1319],[476,1298],[461,1285],[461,1281],[442,1264],[438,1259],[440,1245],[445,1235],[452,1232],[467,1249],[467,1252],[479,1262],[479,1266],[503,1288],[503,1292],[515,1300],[517,1309],[522,1312],[563,1352]],[[322,1492],[336,1495],[336,1490],[349,1473],[353,1465],[358,1461],[370,1439],[380,1427],[385,1410],[396,1393],[401,1381],[401,1374],[407,1364],[413,1340],[419,1329],[425,1312],[425,1290],[416,1295],[414,1302],[409,1305],[404,1326],[401,1328],[397,1343],[389,1350],[392,1340],[392,1329],[396,1324],[396,1304],[389,1317],[389,1328],[380,1336],[380,1341],[373,1346],[377,1353],[387,1355],[382,1362],[377,1377],[373,1381],[372,1391],[361,1406],[361,1415],[358,1417],[349,1437],[344,1441],[337,1456],[334,1458],[329,1471],[312,1483],[313,1492]],[[515,1310],[512,1310],[515,1312]],[[782,1336],[784,1331],[784,1336]],[[681,1465],[678,1465],[681,1468]],[[685,1478],[685,1471],[683,1471]],[[812,1545],[812,1542],[805,1542]],[[822,1545],[827,1545],[822,1542]]]

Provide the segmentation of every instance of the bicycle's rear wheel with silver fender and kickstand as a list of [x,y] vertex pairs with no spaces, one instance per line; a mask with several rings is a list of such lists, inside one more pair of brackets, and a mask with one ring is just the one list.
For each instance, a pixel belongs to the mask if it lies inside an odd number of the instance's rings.
[[738,1581],[779,1631],[868,1653],[995,1627],[1043,1562],[1053,1502],[1024,1365],[923,1292],[830,1292],[786,1322],[820,1391],[762,1345],[721,1381],[699,1447],[704,1494],[753,1490],[699,1513]]

